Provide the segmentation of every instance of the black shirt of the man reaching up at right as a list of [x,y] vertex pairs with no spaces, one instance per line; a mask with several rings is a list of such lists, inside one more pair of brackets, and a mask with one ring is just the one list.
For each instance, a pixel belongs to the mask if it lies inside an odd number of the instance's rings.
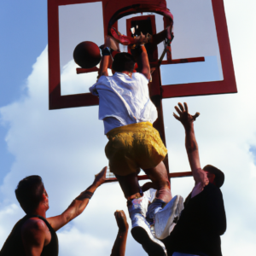
[[173,252],[221,256],[220,237],[226,230],[223,196],[209,183],[204,190],[184,202],[184,209],[170,236],[163,241],[168,255]]

